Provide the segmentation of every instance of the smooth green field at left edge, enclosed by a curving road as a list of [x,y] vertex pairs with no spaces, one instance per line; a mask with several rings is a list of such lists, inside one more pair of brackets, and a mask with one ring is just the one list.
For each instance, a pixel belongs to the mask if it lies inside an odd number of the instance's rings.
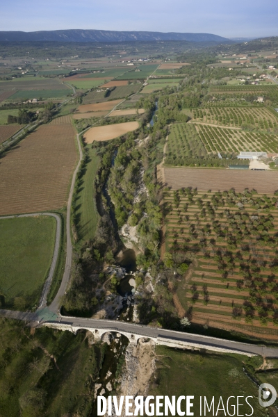
[[2,308],[31,309],[40,299],[54,252],[56,220],[40,216],[0,220]]

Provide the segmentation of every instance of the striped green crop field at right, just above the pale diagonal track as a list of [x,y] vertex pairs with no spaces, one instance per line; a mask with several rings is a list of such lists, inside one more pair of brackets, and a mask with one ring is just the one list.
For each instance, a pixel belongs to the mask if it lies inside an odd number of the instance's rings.
[[193,109],[193,121],[222,126],[252,125],[252,128],[273,131],[278,127],[278,113],[265,107],[211,107]]

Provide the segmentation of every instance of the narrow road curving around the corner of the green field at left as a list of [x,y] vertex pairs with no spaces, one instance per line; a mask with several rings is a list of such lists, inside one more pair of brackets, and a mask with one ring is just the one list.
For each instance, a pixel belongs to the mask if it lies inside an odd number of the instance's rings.
[[42,290],[42,295],[40,297],[39,309],[42,307],[47,306],[47,294],[49,292],[49,288],[51,286],[51,282],[54,276],[54,271],[56,268],[56,263],[59,254],[59,247],[60,247],[60,234],[61,234],[61,220],[60,216],[56,213],[31,213],[31,214],[21,214],[21,215],[6,215],[1,216],[0,219],[12,219],[12,218],[22,218],[22,217],[34,217],[38,215],[51,215],[56,219],[56,238],[55,238],[55,246],[54,246],[54,254],[52,257],[51,267],[49,270],[49,275],[44,282],[44,288]]

